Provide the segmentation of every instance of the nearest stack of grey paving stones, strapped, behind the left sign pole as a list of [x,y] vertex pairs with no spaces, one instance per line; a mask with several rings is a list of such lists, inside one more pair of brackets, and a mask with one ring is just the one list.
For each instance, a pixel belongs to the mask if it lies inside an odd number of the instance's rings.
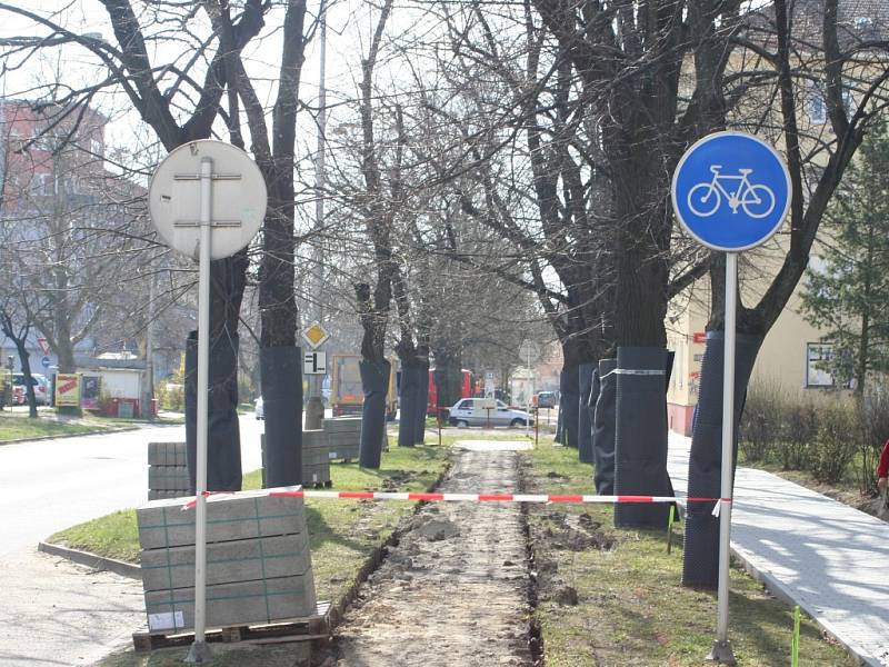
[[[300,487],[207,499],[207,626],[276,623],[316,614]],[[180,500],[137,510],[149,631],[194,626],[194,515]]]

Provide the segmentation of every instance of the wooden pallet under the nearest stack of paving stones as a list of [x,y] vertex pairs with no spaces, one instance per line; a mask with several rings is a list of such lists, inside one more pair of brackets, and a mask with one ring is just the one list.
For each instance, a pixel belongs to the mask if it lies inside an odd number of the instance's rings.
[[[316,613],[302,618],[287,618],[266,624],[249,624],[208,628],[207,641],[223,644],[272,644],[279,641],[309,641],[330,636],[330,603],[318,603]],[[137,653],[171,646],[188,646],[194,641],[194,633],[169,633],[139,630],[132,634],[132,645]]]

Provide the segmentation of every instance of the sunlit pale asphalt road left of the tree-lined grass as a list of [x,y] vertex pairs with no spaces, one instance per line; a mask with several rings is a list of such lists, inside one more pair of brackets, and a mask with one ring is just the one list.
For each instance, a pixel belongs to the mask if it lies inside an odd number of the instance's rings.
[[[262,421],[241,417],[244,470]],[[0,446],[0,667],[92,665],[144,623],[142,586],[37,551],[52,532],[146,501],[148,442],[184,427]]]

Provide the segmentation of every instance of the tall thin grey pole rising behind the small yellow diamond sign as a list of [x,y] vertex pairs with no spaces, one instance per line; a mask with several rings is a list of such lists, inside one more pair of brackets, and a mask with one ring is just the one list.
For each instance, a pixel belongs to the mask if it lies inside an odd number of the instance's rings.
[[[318,89],[318,151],[314,161],[314,230],[316,243],[313,250],[314,285],[314,319],[322,322],[324,317],[323,289],[324,289],[324,248],[321,235],[324,229],[324,132],[327,128],[327,88],[324,87],[324,64],[327,60],[327,8],[321,10],[321,63],[319,66]],[[317,430],[323,427],[324,401],[321,397],[323,375],[309,376],[309,401],[306,404],[306,430]]]

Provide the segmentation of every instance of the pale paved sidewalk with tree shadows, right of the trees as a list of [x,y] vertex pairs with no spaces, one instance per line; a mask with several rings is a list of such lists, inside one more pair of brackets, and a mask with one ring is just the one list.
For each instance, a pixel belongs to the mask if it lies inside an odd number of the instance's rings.
[[[683,494],[690,446],[670,434],[669,471]],[[889,524],[738,468],[731,546],[773,594],[798,604],[866,664],[889,665]]]

